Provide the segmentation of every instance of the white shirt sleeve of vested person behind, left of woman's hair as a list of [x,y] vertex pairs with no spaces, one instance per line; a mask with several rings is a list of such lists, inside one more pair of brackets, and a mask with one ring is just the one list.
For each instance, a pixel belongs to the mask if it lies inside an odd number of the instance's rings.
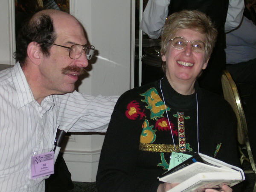
[[140,22],[140,29],[149,38],[157,39],[161,35],[163,25],[168,16],[170,0],[148,0]]

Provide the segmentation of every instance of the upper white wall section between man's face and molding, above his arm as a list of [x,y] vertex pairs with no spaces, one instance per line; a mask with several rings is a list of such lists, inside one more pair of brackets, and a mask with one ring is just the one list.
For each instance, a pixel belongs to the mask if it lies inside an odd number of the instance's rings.
[[131,1],[71,0],[70,6],[70,13],[84,25],[89,42],[99,51],[91,65],[91,86],[85,79],[79,91],[120,95],[130,86]]

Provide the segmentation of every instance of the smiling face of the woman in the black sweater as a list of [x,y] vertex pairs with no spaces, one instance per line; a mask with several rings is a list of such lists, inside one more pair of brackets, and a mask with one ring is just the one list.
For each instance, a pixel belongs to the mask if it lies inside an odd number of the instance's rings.
[[[174,37],[183,37],[186,41],[191,42],[194,40],[205,42],[205,35],[192,29],[180,29]],[[166,76],[169,81],[194,82],[201,73],[201,70],[207,67],[209,59],[205,61],[205,51],[193,51],[190,42],[187,42],[184,49],[179,50],[172,46],[172,41],[169,41],[166,53],[162,55],[162,60],[166,62]]]

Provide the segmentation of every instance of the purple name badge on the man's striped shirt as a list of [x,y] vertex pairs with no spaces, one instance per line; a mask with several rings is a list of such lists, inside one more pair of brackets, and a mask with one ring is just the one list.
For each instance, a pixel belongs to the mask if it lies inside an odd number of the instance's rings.
[[53,151],[31,157],[31,178],[44,177],[54,173]]

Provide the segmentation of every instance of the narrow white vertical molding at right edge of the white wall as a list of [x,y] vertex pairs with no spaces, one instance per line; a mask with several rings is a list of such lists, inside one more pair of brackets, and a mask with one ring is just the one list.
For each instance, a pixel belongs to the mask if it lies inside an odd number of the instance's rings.
[[130,56],[130,89],[134,88],[134,59],[135,59],[135,4],[131,0],[131,56]]

